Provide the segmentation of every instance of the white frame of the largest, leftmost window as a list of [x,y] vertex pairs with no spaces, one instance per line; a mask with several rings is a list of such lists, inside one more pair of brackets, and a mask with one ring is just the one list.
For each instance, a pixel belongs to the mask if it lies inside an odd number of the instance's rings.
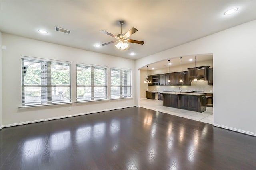
[[[46,84],[47,85],[25,85],[24,84],[24,73],[26,72],[26,69],[28,67],[24,66],[24,61],[31,61],[31,62],[39,62],[39,63],[47,63],[47,68],[44,68],[46,70],[46,74],[47,76],[44,77],[40,77],[41,81],[42,78],[44,78],[44,80],[46,80]],[[67,67],[69,69],[69,84],[68,85],[52,85],[51,84],[51,64],[60,64],[65,67]],[[26,68],[25,68],[26,67]],[[44,106],[44,105],[55,105],[55,104],[66,104],[66,103],[70,103],[71,102],[71,63],[67,62],[67,61],[57,61],[57,60],[49,60],[49,59],[41,59],[41,58],[35,58],[35,57],[26,57],[26,56],[21,56],[21,68],[22,68],[22,80],[21,80],[21,84],[22,84],[22,107],[30,107],[30,106]],[[42,70],[42,68],[41,68]],[[25,88],[26,87],[39,87],[39,88],[47,88],[47,95],[44,94],[44,96],[46,96],[46,99],[41,101],[41,102],[25,102]],[[60,99],[60,100],[54,100],[52,101],[52,88],[53,87],[68,87],[69,88],[69,98],[68,99]],[[42,91],[41,91],[41,98],[42,98]]]

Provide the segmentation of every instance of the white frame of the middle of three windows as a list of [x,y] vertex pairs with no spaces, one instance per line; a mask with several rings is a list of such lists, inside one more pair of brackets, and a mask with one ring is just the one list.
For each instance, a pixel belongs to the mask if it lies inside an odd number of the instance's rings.
[[[90,68],[91,72],[91,79],[90,79],[90,85],[78,85],[78,75],[77,75],[77,68],[84,67],[84,68]],[[94,85],[94,68],[105,70],[105,84],[104,85]],[[108,97],[108,86],[107,86],[107,67],[106,66],[97,66],[97,65],[90,65],[90,64],[82,64],[77,63],[76,64],[76,102],[90,102],[90,101],[97,101],[97,100],[106,100]],[[90,100],[86,100],[86,97],[78,97],[78,87],[89,87],[90,88],[90,97],[87,97]],[[94,87],[104,87],[105,88],[105,96],[95,96],[94,93]],[[96,99],[99,98],[99,99]],[[84,99],[84,100],[82,100]]]

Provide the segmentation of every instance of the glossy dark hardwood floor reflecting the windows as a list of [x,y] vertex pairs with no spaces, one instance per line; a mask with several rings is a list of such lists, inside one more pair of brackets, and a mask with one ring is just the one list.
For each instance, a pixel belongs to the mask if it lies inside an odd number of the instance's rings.
[[255,170],[256,137],[131,107],[4,128],[1,170]]

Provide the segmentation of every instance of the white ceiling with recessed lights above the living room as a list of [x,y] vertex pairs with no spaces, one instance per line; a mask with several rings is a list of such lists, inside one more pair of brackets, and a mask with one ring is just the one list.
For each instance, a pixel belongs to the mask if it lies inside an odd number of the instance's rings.
[[[233,15],[224,16],[238,7]],[[177,45],[256,19],[256,0],[0,0],[0,30],[4,33],[76,47],[108,55],[139,59]],[[138,29],[130,38],[145,41],[129,43],[130,50],[121,51],[115,40],[100,33],[123,33]],[[71,31],[64,34],[54,30]],[[48,31],[42,35],[38,29]],[[131,56],[130,53],[135,53]]]

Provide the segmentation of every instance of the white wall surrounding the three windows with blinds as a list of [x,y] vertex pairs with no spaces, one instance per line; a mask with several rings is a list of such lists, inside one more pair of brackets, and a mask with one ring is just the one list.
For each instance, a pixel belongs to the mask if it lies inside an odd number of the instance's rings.
[[[83,113],[135,105],[135,61],[75,49],[62,45],[46,43],[24,37],[2,33],[2,44],[7,50],[2,53],[2,88],[3,111],[2,125],[18,125],[25,122],[68,117]],[[21,55],[71,62],[71,94],[72,102],[76,101],[76,63],[94,64],[108,67],[108,97],[110,98],[110,67],[132,70],[132,95],[134,98],[104,100],[95,102],[74,103],[70,105],[45,106],[19,109],[21,106]],[[72,110],[68,110],[68,107]]]

